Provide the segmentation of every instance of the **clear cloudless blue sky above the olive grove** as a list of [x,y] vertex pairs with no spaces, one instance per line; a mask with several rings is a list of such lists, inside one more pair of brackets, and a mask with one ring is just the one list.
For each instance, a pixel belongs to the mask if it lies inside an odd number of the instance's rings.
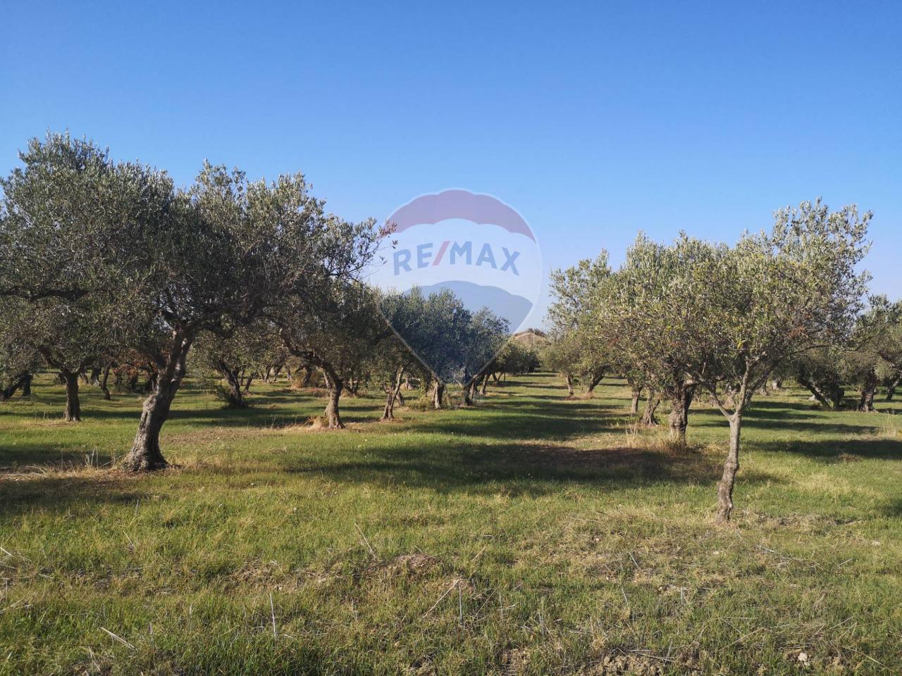
[[549,267],[824,196],[875,212],[873,287],[902,296],[897,3],[6,2],[3,24],[4,172],[69,128],[183,183],[205,158],[302,170],[352,219],[466,187]]

